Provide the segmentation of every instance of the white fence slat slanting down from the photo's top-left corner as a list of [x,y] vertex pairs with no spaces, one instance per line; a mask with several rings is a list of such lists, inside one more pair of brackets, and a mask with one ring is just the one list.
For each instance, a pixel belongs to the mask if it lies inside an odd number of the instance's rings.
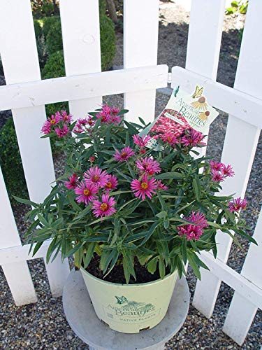
[[[1,1],[0,26],[1,59],[6,83],[40,80],[30,0]],[[50,183],[54,181],[50,142],[40,139],[45,107],[13,109],[12,112],[29,197],[34,202],[41,202],[50,192]],[[67,270],[68,274],[69,267]],[[54,286],[64,272],[61,263],[48,267],[50,285]],[[15,277],[20,278],[19,267],[13,268],[12,276],[8,276],[9,281],[15,280]]]

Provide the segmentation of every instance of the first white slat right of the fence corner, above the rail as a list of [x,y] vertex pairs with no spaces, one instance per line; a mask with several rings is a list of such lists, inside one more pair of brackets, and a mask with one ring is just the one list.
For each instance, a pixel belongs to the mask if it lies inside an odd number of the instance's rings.
[[215,80],[224,21],[225,0],[192,1],[186,68]]

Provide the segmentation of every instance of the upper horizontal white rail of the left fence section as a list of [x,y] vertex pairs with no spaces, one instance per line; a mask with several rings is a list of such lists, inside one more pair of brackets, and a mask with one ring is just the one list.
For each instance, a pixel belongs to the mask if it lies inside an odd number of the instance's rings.
[[6,85],[0,87],[0,111],[68,99],[78,100],[78,103],[101,95],[152,90],[166,87],[167,79],[168,66],[162,64]]

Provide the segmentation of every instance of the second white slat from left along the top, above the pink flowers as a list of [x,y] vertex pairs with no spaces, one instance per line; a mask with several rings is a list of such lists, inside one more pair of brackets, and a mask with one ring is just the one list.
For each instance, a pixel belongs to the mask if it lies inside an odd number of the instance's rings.
[[[60,0],[66,76],[101,71],[99,0]],[[85,96],[87,97],[87,96]],[[69,101],[74,118],[98,109],[102,97]]]

